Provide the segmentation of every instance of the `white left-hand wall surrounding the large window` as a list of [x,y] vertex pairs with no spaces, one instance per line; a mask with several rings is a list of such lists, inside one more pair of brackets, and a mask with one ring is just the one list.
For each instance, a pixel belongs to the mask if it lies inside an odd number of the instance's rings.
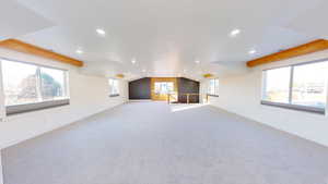
[[[120,105],[127,99],[128,86],[125,81],[120,81],[120,96],[109,97],[109,87],[105,77],[84,75],[79,73],[78,68],[68,64],[4,49],[0,49],[0,57],[67,69],[70,85],[69,106],[11,115],[0,122],[0,148],[73,123]],[[3,108],[0,110],[0,113],[3,113]]]

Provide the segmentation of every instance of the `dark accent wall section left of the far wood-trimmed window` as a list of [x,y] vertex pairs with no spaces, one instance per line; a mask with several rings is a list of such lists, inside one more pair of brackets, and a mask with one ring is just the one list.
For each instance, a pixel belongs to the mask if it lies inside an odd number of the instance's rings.
[[129,99],[151,99],[151,78],[129,82]]

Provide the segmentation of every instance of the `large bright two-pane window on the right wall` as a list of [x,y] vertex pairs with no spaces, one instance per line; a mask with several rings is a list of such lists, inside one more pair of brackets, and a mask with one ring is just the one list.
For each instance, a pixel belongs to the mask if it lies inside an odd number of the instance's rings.
[[265,71],[262,103],[325,113],[327,82],[327,61]]

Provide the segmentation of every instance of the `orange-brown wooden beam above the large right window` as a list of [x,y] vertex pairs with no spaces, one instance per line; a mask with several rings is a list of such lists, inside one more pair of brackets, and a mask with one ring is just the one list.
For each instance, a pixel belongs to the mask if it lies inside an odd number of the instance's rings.
[[248,68],[254,68],[261,64],[271,63],[274,61],[286,60],[294,57],[300,57],[321,50],[328,49],[328,40],[326,39],[317,39],[305,45],[301,45],[294,48],[290,48],[277,53],[272,53],[256,60],[251,60],[247,62]]

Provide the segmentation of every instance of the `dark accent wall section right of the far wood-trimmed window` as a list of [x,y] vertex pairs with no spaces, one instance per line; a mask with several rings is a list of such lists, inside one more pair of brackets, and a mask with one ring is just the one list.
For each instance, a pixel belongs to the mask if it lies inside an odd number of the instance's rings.
[[[183,94],[199,94],[199,82],[189,78],[177,78],[178,85],[178,102],[187,102],[187,96]],[[190,96],[189,102],[198,103],[199,96]]]

